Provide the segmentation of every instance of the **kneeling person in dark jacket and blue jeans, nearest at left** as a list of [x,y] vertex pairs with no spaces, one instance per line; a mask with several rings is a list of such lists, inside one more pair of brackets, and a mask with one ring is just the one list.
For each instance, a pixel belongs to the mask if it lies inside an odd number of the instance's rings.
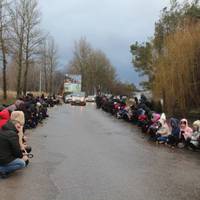
[[18,132],[22,124],[19,121],[8,121],[0,131],[0,175],[8,174],[26,166],[27,156],[23,156]]

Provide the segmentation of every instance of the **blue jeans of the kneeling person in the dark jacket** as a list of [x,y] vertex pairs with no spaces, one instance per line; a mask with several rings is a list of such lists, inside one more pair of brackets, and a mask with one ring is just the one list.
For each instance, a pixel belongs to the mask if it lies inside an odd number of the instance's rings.
[[22,169],[26,166],[26,163],[22,159],[15,159],[12,162],[8,163],[7,165],[0,165],[0,172],[1,173],[11,173],[16,170]]

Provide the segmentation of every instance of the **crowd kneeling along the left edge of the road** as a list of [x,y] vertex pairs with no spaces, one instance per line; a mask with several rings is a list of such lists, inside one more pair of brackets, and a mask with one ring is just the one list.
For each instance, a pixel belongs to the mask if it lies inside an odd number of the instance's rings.
[[36,128],[48,117],[48,107],[59,104],[54,96],[34,97],[29,93],[12,105],[0,106],[0,177],[7,178],[12,172],[29,164],[32,148],[24,135],[27,129]]

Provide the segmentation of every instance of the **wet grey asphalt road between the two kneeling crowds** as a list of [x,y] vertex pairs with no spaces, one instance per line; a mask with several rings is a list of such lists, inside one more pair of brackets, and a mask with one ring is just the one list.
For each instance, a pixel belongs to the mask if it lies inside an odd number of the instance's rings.
[[136,127],[63,105],[28,131],[30,166],[0,180],[0,200],[199,200],[200,153],[147,141]]

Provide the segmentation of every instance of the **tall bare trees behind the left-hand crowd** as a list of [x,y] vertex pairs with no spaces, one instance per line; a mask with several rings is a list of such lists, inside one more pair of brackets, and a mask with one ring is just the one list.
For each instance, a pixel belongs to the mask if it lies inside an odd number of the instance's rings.
[[0,0],[0,74],[3,98],[27,91],[57,93],[64,74],[58,70],[54,38],[41,28],[37,0]]

